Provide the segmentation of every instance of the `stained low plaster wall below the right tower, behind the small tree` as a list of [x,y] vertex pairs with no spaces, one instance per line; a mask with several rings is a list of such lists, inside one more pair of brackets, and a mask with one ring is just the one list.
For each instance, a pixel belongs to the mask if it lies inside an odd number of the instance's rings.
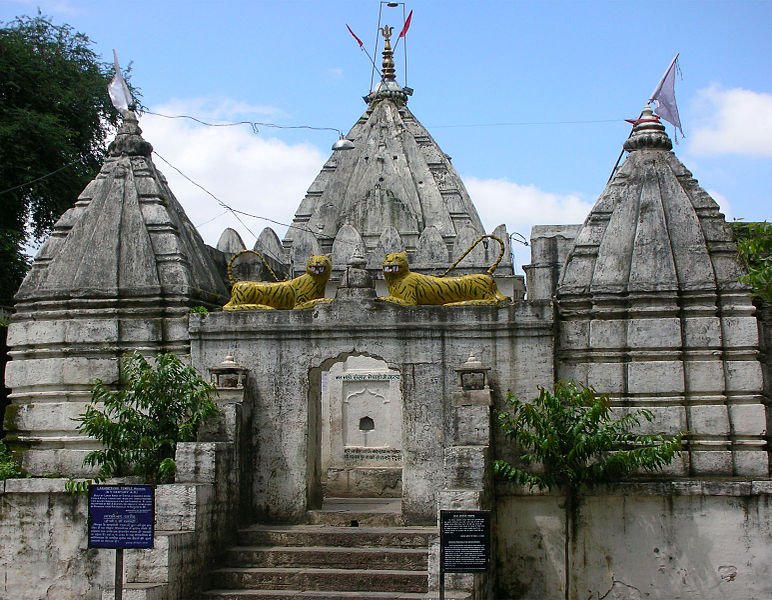
[[770,598],[771,493],[769,481],[678,481],[585,496],[565,596],[563,497],[503,486],[496,598]]

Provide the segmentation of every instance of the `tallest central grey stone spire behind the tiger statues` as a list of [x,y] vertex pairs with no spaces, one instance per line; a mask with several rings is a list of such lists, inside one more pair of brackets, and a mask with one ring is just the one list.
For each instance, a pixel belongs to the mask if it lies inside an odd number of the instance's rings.
[[[295,212],[281,244],[285,260],[301,271],[309,255],[331,253],[336,271],[359,254],[373,272],[388,252],[407,250],[414,270],[448,267],[485,230],[461,178],[429,132],[407,107],[412,93],[396,81],[392,28],[384,37],[381,81],[365,97],[367,110],[336,150]],[[507,245],[507,232],[494,232]],[[266,230],[256,250],[275,256],[276,236]],[[479,271],[495,260],[497,244],[480,244],[455,274]],[[511,277],[507,248],[497,277]]]

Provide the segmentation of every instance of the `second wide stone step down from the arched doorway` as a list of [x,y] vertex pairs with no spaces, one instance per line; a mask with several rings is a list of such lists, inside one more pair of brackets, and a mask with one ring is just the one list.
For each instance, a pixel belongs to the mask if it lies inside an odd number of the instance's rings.
[[253,567],[326,567],[426,571],[426,548],[350,548],[339,546],[234,546],[225,564]]

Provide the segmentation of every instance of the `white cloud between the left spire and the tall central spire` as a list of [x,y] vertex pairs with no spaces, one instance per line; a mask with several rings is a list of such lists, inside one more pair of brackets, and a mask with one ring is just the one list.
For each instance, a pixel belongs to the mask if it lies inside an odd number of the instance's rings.
[[[169,115],[203,116],[203,120],[215,117],[238,120],[236,113],[246,111],[245,107],[248,105],[233,101],[207,105],[199,100],[189,103],[174,100],[151,110]],[[247,125],[205,127],[188,119],[145,114],[140,118],[140,126],[143,136],[160,156],[224,203],[285,224],[292,221],[306,189],[326,159],[311,144],[288,144],[270,137],[263,129],[254,134]],[[238,231],[248,248],[254,245],[255,236],[260,235],[264,227],[272,227],[279,237],[284,235],[285,227],[264,219],[242,215],[246,226],[242,225],[215,199],[163,160],[154,157],[154,162],[207,244],[214,246],[226,227]]]

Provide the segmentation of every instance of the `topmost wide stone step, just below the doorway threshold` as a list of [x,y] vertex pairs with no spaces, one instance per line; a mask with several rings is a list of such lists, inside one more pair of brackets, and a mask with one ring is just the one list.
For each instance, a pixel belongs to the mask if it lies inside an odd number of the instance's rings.
[[439,531],[436,527],[252,525],[239,531],[239,545],[425,549],[438,536]]

